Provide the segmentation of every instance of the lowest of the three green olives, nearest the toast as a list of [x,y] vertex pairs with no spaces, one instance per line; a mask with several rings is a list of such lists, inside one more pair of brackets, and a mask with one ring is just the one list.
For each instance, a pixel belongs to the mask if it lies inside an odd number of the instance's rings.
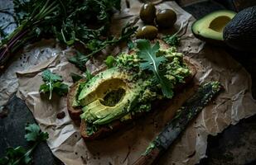
[[158,29],[155,26],[143,26],[136,33],[136,38],[152,40],[156,38],[157,32],[158,32]]

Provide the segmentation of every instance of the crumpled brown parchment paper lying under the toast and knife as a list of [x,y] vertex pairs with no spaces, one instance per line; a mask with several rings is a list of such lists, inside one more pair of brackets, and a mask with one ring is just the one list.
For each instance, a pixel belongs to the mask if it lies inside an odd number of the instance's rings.
[[[129,1],[130,8],[114,16],[114,27],[117,31],[125,21],[132,21],[138,16],[141,3]],[[181,37],[179,50],[196,65],[195,82],[203,83],[212,80],[220,81],[225,87],[214,103],[206,106],[193,120],[191,125],[181,134],[181,137],[167,150],[159,164],[195,164],[205,157],[207,135],[218,134],[228,125],[236,124],[240,119],[256,113],[256,102],[251,96],[251,78],[244,68],[232,59],[225,51],[217,47],[204,46],[191,34],[191,23],[195,20],[189,13],[183,11],[175,2],[164,2],[157,8],[172,8],[178,16],[176,29],[185,25],[184,35]],[[142,25],[139,21],[138,25]],[[204,48],[203,48],[204,47]],[[115,48],[118,50],[118,48]],[[51,53],[51,52],[49,52]],[[65,164],[132,164],[145,151],[147,145],[162,130],[162,127],[174,115],[193,91],[193,87],[186,92],[177,93],[166,110],[156,110],[142,120],[130,124],[126,130],[112,134],[107,139],[86,142],[81,139],[79,128],[70,120],[66,109],[66,98],[54,96],[51,101],[41,97],[38,89],[42,83],[41,71],[50,68],[59,73],[69,85],[70,73],[78,73],[73,64],[67,62],[66,56],[73,54],[73,50],[63,50],[58,54],[50,54],[44,62],[36,64],[27,70],[17,72],[17,97],[26,101],[41,130],[49,133],[47,144],[53,154]],[[103,58],[99,58],[103,59]],[[98,59],[90,60],[87,64],[90,71],[104,67]],[[65,112],[63,119],[57,119],[56,114]]]

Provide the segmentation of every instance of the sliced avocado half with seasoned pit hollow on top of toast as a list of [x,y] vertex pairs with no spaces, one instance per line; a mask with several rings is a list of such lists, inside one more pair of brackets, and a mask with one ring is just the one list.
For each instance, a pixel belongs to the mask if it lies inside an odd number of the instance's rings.
[[84,111],[81,118],[105,125],[127,115],[142,92],[141,82],[131,82],[131,77],[120,68],[110,68],[91,79],[78,97]]

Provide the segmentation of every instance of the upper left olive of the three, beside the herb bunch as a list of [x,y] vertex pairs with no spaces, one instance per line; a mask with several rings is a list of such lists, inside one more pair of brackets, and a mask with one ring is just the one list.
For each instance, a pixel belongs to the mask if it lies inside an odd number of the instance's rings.
[[156,17],[156,7],[151,2],[143,4],[139,16],[144,23],[152,24]]

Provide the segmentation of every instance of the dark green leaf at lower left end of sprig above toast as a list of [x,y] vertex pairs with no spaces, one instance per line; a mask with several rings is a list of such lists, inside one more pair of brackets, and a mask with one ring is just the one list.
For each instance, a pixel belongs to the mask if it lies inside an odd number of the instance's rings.
[[85,54],[80,53],[79,51],[76,51],[75,56],[70,57],[69,59],[70,63],[75,64],[77,68],[80,68],[81,71],[86,70],[86,62],[88,61],[88,58],[85,56]]

